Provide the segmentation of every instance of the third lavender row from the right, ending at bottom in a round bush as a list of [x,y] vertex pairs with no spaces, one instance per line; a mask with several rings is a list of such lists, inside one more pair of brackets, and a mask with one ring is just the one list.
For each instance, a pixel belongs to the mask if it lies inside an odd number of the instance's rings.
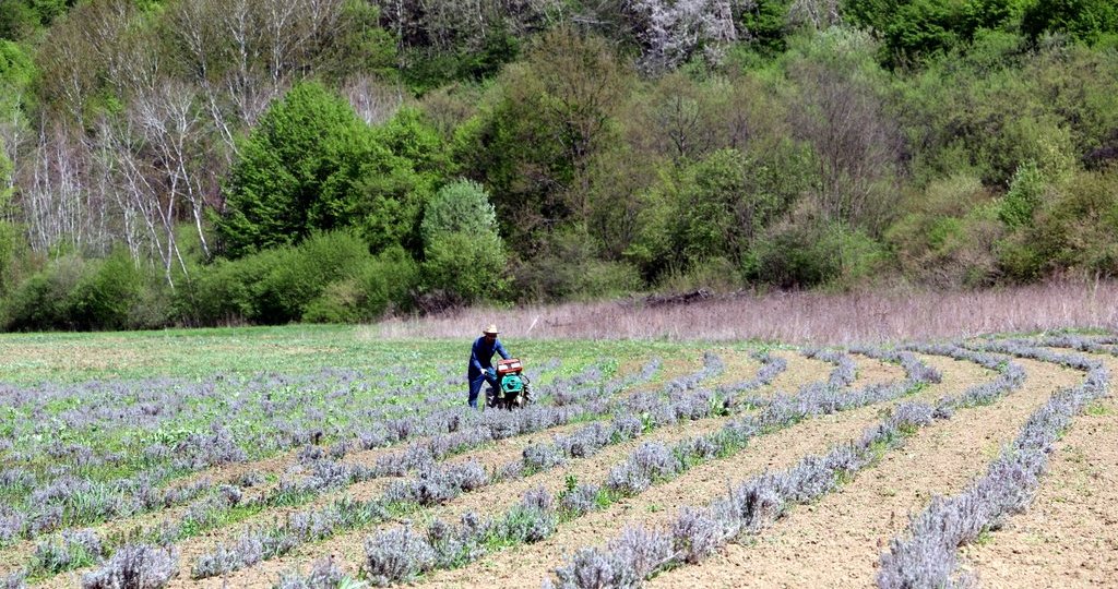
[[[672,447],[659,441],[643,444],[610,469],[600,487],[572,481],[558,501],[538,488],[525,494],[521,504],[503,516],[483,524],[470,514],[457,526],[435,522],[426,535],[406,528],[375,534],[366,540],[364,573],[376,585],[405,582],[429,570],[463,566],[494,550],[542,540],[555,532],[560,521],[575,520],[623,497],[639,495],[653,484],[678,476],[697,464],[732,455],[752,437],[787,427],[812,415],[897,398],[919,384],[906,379],[903,383],[893,386],[869,386],[849,391],[850,400],[837,401],[836,397],[843,393],[836,390],[836,386],[853,380],[853,364],[836,364],[832,377],[836,372],[849,376],[828,378],[822,387],[816,383],[805,386],[795,396],[796,401],[768,403],[759,416],[735,419],[716,434],[689,438]],[[926,374],[932,372],[920,371]],[[788,399],[787,396],[777,396],[777,399],[781,398]]]

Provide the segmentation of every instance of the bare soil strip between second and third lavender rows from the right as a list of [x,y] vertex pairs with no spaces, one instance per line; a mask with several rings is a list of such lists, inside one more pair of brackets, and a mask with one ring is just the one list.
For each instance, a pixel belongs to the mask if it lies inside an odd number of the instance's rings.
[[[858,386],[872,382],[874,370],[859,359]],[[890,376],[896,377],[885,367]],[[985,377],[979,374],[977,378]],[[880,382],[880,381],[878,381]],[[936,399],[949,392],[950,381],[930,386],[918,398]],[[655,485],[639,496],[587,514],[560,525],[551,538],[515,550],[491,554],[468,567],[436,571],[417,585],[429,587],[531,587],[538,588],[549,571],[562,563],[575,550],[605,542],[629,523],[659,523],[674,516],[680,505],[697,505],[724,493],[729,483],[738,482],[765,469],[792,466],[804,455],[827,449],[834,444],[856,437],[877,422],[883,406],[866,407],[842,414],[808,419],[788,429],[761,436],[736,456],[697,466],[683,476]],[[679,585],[678,587],[697,587]]]

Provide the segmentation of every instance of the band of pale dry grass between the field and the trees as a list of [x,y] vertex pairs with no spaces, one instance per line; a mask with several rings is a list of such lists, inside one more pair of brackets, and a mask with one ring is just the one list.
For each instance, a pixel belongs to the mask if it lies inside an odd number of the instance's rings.
[[366,327],[370,338],[461,338],[496,322],[510,338],[758,339],[849,344],[984,333],[1118,327],[1118,283],[980,292],[774,293],[647,307],[639,300],[474,307]]

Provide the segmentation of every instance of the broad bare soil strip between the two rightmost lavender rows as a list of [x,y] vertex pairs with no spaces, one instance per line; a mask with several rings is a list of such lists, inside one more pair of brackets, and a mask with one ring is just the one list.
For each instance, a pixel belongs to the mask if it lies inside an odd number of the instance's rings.
[[[973,364],[944,371],[954,392],[984,378]],[[1083,374],[1053,364],[1018,360],[1024,386],[989,407],[964,409],[921,429],[904,446],[818,502],[794,507],[750,545],[730,544],[707,562],[654,578],[667,587],[871,587],[880,554],[902,533],[909,515],[932,495],[955,494],[1012,440],[1059,387]],[[1025,587],[1022,585],[1017,587]]]

